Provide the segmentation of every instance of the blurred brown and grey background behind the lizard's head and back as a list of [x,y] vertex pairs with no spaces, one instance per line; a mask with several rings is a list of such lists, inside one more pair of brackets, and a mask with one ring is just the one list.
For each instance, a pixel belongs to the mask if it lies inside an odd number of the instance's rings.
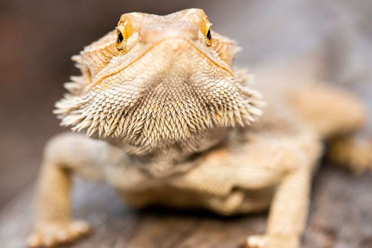
[[[0,209],[33,185],[44,143],[66,131],[52,115],[79,72],[71,55],[115,28],[127,12],[165,15],[202,8],[254,68],[303,54],[324,60],[325,80],[372,106],[371,0],[0,1]],[[370,111],[371,113],[371,111]]]

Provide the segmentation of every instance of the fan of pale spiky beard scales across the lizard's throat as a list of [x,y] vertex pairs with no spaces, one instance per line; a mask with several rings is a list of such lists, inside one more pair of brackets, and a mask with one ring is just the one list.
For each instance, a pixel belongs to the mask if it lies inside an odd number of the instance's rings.
[[223,130],[247,125],[261,114],[260,94],[239,79],[177,82],[173,77],[169,82],[162,77],[144,90],[133,82],[115,81],[82,88],[82,79],[74,79],[67,84],[71,94],[55,105],[61,125],[114,143],[129,154],[174,145],[201,152],[223,139]]

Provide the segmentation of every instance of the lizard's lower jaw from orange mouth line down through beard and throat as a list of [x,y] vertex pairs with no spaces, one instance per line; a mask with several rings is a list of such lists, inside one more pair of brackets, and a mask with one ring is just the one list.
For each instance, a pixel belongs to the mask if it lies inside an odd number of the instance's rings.
[[91,90],[56,104],[62,125],[143,155],[170,144],[208,149],[228,128],[260,115],[260,96],[203,44],[174,36],[136,49],[103,69]]

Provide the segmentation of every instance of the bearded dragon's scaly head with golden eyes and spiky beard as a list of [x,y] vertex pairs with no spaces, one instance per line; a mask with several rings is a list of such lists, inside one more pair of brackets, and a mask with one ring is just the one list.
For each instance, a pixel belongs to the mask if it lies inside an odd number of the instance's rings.
[[128,13],[73,60],[82,75],[57,102],[61,124],[130,154],[203,151],[260,115],[260,96],[232,69],[234,41],[203,10]]

